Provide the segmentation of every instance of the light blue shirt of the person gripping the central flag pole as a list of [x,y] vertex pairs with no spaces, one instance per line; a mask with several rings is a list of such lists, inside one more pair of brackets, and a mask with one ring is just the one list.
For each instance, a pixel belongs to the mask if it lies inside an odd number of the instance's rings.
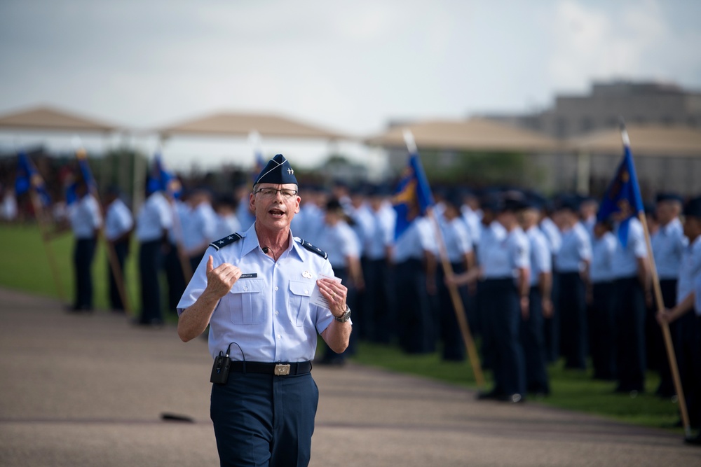
[[489,240],[486,243],[480,242],[478,250],[482,277],[484,279],[517,277],[519,268],[531,266],[531,246],[526,234],[520,227],[511,232],[507,232],[501,224],[499,228],[492,228],[491,225],[490,228],[492,235],[482,237]]

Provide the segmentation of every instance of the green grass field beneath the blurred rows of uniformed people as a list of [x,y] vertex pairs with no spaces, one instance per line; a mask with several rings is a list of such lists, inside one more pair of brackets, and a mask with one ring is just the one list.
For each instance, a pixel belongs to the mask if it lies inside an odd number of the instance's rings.
[[[51,249],[59,270],[67,302],[71,302],[74,290],[72,269],[72,235],[54,239]],[[107,257],[104,243],[99,242],[93,281],[95,284],[95,307],[108,309],[107,298]],[[137,282],[137,245],[125,266],[127,289],[132,308],[137,309],[139,285]],[[51,274],[46,249],[36,225],[0,225],[0,286],[18,291],[57,298],[58,292]],[[165,287],[163,287],[165,291]],[[165,302],[164,302],[165,303]],[[165,314],[165,313],[164,313]],[[165,316],[172,315],[165,314]],[[387,370],[436,379],[449,384],[476,388],[475,377],[470,364],[441,361],[440,356],[407,355],[398,347],[361,342],[353,361]],[[597,382],[585,372],[563,370],[562,365],[549,368],[552,395],[538,402],[569,410],[599,414],[621,421],[658,428],[669,428],[679,419],[678,405],[669,400],[653,396],[658,377],[650,373],[646,383],[646,393],[636,398],[613,393],[613,383]],[[485,376],[488,379],[489,372]],[[681,433],[681,430],[679,430]]]

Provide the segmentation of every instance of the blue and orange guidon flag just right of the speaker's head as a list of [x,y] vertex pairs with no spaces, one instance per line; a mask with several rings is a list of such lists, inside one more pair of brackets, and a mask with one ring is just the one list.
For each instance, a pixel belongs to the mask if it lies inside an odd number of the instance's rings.
[[[433,206],[433,195],[428,185],[428,179],[423,172],[418,151],[411,141],[409,145],[409,164],[404,169],[402,178],[392,197],[392,204],[397,213],[395,224],[395,240],[409,228],[414,219],[426,215],[429,207]],[[414,146],[414,147],[411,147]]]

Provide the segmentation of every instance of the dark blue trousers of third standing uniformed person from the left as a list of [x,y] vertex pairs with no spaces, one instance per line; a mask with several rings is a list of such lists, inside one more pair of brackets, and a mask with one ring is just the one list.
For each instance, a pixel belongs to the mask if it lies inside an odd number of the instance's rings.
[[141,277],[141,318],[144,324],[163,321],[161,316],[161,286],[158,271],[163,253],[161,240],[144,242],[139,247],[139,276]]

